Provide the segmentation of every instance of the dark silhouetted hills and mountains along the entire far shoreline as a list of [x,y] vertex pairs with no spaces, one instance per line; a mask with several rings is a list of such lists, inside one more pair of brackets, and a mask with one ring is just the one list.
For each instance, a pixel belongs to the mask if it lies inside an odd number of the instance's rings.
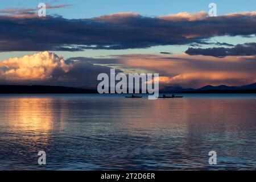
[[[182,88],[181,86],[164,86],[160,93],[256,93],[256,83],[243,86],[212,86],[207,85],[200,89]],[[0,85],[0,94],[11,93],[98,93],[95,89],[73,88],[67,86],[44,85]]]

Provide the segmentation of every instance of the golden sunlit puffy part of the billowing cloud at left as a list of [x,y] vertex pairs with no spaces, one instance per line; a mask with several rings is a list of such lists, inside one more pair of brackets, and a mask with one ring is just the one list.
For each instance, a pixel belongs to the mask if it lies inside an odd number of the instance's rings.
[[15,57],[0,63],[5,71],[1,74],[5,80],[47,80],[52,78],[53,71],[58,68],[68,72],[72,65],[64,63],[64,60],[54,53],[39,52],[34,55]]

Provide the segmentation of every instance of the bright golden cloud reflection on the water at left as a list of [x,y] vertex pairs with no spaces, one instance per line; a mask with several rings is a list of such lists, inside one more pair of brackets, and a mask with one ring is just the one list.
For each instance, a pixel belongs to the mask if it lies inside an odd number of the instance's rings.
[[23,139],[47,144],[53,127],[62,130],[64,109],[55,107],[52,98],[13,98],[6,102],[6,117],[11,130],[18,131]]

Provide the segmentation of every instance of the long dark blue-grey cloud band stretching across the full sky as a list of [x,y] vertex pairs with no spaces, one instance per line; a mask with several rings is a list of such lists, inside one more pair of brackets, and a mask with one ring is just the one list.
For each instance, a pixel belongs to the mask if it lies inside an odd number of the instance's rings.
[[89,19],[14,14],[1,15],[0,23],[0,51],[82,51],[209,44],[213,36],[250,36],[256,32],[256,13],[117,13]]

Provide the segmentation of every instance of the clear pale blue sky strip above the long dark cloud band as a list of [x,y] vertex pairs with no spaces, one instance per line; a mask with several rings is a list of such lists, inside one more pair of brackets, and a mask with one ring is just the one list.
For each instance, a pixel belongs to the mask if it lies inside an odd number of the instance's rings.
[[228,14],[234,12],[255,11],[254,0],[232,1],[232,0],[74,0],[74,1],[42,1],[42,0],[9,0],[1,1],[1,9],[10,8],[33,8],[40,2],[50,4],[73,5],[67,9],[53,10],[52,13],[63,15],[65,18],[92,18],[105,14],[117,12],[133,11],[147,16],[160,16],[166,14],[176,14],[183,11],[197,13],[199,11],[208,11],[209,3],[217,4],[218,14]]

